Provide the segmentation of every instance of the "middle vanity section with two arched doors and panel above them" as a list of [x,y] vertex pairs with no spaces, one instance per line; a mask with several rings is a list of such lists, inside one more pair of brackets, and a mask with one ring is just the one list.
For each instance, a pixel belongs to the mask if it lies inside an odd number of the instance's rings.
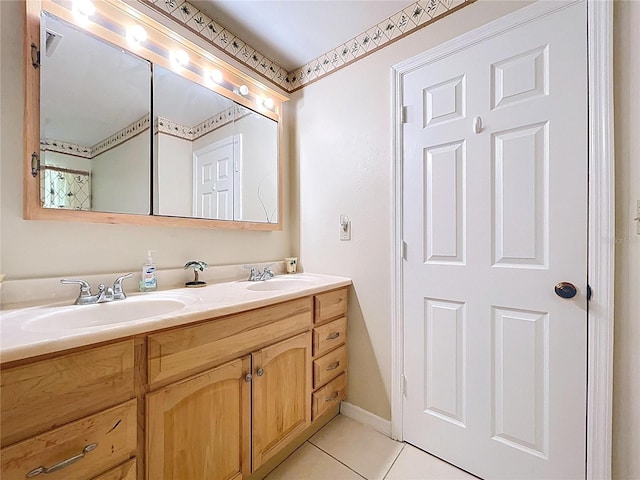
[[246,478],[302,434],[312,323],[303,297],[149,335],[147,480]]

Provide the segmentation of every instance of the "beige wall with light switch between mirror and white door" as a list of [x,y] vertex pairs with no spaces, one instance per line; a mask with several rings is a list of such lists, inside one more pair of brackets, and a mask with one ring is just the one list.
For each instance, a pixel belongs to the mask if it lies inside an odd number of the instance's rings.
[[[353,278],[349,402],[389,419],[391,381],[391,67],[526,2],[480,1],[295,93],[300,260]],[[339,240],[341,213],[352,240]]]

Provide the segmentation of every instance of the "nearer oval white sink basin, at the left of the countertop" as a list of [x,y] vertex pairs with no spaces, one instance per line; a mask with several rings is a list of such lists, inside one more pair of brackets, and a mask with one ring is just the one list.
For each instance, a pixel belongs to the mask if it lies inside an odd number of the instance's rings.
[[182,294],[137,295],[125,300],[95,305],[43,307],[25,311],[22,329],[30,332],[56,332],[104,327],[157,315],[176,313],[198,301],[198,297]]

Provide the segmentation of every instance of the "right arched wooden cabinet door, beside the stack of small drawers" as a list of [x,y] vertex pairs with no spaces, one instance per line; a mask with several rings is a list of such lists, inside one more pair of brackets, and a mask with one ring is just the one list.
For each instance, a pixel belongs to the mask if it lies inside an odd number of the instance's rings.
[[253,470],[311,424],[311,333],[253,353]]

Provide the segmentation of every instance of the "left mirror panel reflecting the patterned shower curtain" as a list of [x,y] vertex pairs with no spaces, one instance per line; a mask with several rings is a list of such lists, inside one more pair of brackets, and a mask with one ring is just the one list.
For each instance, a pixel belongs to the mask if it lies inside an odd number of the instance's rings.
[[40,202],[151,213],[151,64],[45,12]]

